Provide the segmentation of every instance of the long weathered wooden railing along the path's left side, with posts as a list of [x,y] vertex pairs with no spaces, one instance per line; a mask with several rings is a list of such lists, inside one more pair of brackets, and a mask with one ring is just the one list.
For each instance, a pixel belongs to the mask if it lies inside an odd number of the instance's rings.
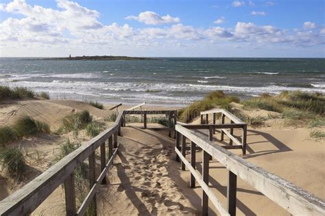
[[[106,183],[105,176],[119,150],[117,135],[121,134],[122,116],[123,112],[119,113],[115,123],[106,131],[83,144],[80,148],[58,161],[58,163],[49,167],[43,174],[34,178],[30,183],[2,200],[0,202],[0,215],[28,215],[32,213],[62,183],[64,183],[67,215],[84,215],[91,202],[93,202],[96,209],[96,192],[99,189],[99,184]],[[106,163],[106,141],[109,151],[108,163]],[[96,178],[95,151],[99,147],[101,174]],[[73,172],[87,158],[91,190],[80,208],[76,210]]]

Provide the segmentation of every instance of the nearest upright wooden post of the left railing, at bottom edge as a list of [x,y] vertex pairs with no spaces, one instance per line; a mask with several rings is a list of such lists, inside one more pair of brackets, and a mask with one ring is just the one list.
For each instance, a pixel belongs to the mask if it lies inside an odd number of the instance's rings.
[[75,178],[73,173],[64,181],[65,209],[67,216],[75,215]]

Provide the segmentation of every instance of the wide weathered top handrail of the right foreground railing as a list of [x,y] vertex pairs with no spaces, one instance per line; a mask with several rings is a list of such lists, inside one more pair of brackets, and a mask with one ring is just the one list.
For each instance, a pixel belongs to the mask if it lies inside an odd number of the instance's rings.
[[263,170],[261,167],[245,161],[221,146],[213,144],[200,133],[195,133],[180,125],[176,125],[176,131],[194,141],[202,150],[212,154],[228,170],[285,208],[289,213],[293,215],[325,215],[324,200],[279,176]]

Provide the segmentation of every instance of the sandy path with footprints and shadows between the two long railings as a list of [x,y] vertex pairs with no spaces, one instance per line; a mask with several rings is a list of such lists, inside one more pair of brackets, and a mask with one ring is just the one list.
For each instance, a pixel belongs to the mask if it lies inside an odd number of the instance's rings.
[[[177,185],[184,185],[173,161],[173,139],[128,126],[122,130],[121,154],[97,195],[99,215],[197,215]],[[194,194],[195,195],[195,194]]]

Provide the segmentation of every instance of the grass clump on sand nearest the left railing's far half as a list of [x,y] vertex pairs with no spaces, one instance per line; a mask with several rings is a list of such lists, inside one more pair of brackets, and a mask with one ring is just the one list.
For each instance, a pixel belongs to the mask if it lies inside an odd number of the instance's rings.
[[73,131],[73,133],[76,133],[77,135],[77,131],[86,128],[87,124],[92,121],[93,117],[88,110],[65,116],[62,119],[62,126],[58,133],[68,133]]

